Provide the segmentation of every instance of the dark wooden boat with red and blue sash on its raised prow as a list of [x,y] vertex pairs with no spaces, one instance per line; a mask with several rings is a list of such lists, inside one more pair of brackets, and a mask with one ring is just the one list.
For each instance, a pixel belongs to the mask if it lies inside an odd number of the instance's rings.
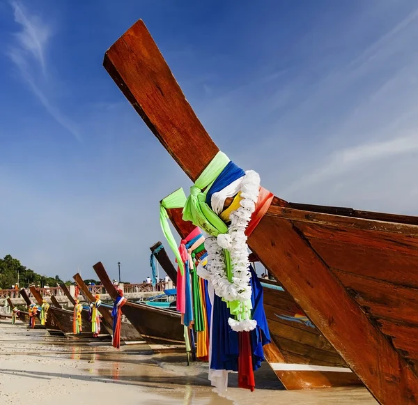
[[[118,292],[111,283],[102,263],[99,261],[93,268],[111,298],[116,300]],[[151,347],[153,344],[184,344],[183,326],[180,323],[178,312],[129,301],[121,309]]]

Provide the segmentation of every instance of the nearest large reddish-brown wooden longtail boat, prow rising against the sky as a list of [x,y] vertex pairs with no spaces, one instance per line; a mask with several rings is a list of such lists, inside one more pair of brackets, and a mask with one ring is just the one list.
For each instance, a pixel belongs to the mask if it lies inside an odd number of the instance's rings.
[[[104,67],[196,181],[219,149],[141,20],[106,52]],[[275,197],[248,239],[380,404],[418,404],[417,225],[417,217]]]

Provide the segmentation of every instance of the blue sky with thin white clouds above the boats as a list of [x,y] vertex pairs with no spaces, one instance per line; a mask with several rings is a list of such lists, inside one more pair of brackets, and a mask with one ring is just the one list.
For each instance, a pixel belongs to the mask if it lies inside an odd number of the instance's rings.
[[288,201],[418,214],[415,1],[0,0],[0,256],[141,281],[185,174],[102,68],[142,18],[219,147]]

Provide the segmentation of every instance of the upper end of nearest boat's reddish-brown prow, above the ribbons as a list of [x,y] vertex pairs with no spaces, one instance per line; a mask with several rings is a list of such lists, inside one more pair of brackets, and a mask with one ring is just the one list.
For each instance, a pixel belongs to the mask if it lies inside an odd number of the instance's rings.
[[[148,128],[194,181],[219,148],[194,114],[167,63],[158,63],[163,60],[144,22],[139,20],[106,52],[103,66]],[[190,151],[199,151],[199,160],[186,167],[182,162],[190,160]]]

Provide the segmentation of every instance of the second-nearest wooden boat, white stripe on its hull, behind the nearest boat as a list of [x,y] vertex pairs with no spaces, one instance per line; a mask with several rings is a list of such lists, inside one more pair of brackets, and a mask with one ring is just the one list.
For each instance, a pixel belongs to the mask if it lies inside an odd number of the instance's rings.
[[[183,221],[182,211],[171,208],[167,209],[167,214],[180,237],[185,239],[195,226],[192,222]],[[361,384],[292,296],[277,282],[260,281],[272,339],[272,343],[264,346],[265,360],[284,387],[303,390]]]

